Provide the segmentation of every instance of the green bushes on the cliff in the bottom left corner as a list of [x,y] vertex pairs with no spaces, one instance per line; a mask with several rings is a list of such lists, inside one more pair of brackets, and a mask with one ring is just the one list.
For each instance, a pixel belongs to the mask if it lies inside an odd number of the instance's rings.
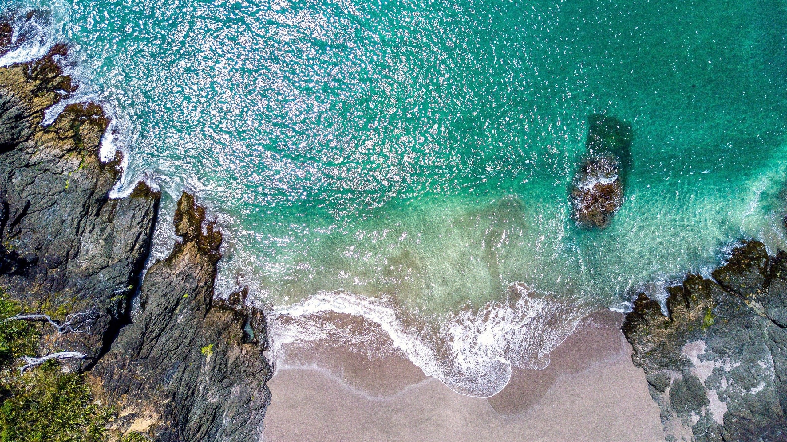
[[39,340],[31,322],[5,321],[20,311],[0,291],[0,441],[107,440],[113,409],[94,400],[83,374],[63,373],[54,361],[20,374],[17,359],[35,355]]

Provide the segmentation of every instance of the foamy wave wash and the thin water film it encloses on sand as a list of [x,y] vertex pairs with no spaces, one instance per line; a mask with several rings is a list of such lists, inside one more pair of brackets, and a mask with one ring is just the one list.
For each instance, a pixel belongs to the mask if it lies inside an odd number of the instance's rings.
[[[342,359],[359,359],[360,366],[368,366],[393,356],[412,361],[453,391],[494,396],[508,384],[515,366],[547,366],[549,352],[595,311],[521,283],[509,285],[508,292],[505,302],[489,301],[478,310],[460,312],[456,319],[442,320],[439,330],[426,331],[418,322],[410,328],[405,315],[379,298],[345,291],[316,293],[269,311],[272,356],[279,366],[309,366],[319,355],[318,365],[349,384],[353,381],[337,371],[345,366]],[[349,355],[342,348],[370,356]],[[366,359],[368,363],[361,362]],[[351,372],[368,370],[350,366]]]

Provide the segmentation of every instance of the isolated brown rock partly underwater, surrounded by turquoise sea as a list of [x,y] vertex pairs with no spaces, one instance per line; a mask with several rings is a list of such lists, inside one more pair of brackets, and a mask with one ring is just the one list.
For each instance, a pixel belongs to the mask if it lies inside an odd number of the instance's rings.
[[579,227],[604,229],[623,204],[631,125],[603,115],[590,116],[589,125],[586,157],[569,190],[571,217]]

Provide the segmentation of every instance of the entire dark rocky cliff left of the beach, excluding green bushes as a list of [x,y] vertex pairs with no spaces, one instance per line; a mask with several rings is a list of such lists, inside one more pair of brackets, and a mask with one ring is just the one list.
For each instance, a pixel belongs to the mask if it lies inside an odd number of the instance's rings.
[[[0,42],[9,32],[0,26]],[[270,396],[264,317],[240,293],[233,305],[213,300],[221,234],[186,193],[182,241],[140,282],[161,194],[140,182],[108,197],[120,153],[99,160],[100,105],[68,105],[42,126],[44,111],[76,90],[57,64],[66,51],[0,68],[0,285],[30,313],[72,319],[79,333],[42,328],[39,353],[85,353],[65,369],[102,385],[120,434],[258,440]],[[135,293],[142,311],[131,322]]]

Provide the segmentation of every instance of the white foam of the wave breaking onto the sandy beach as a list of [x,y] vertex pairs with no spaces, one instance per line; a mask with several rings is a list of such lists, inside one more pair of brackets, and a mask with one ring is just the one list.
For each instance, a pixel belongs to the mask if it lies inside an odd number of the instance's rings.
[[[461,312],[442,322],[436,333],[405,326],[403,312],[390,300],[345,291],[315,293],[300,303],[273,309],[273,357],[287,344],[309,341],[332,340],[378,352],[396,348],[424,374],[454,391],[492,396],[508,383],[512,366],[544,368],[549,352],[574,331],[582,317],[574,304],[534,293],[525,285],[512,287],[518,292],[516,300]],[[331,313],[374,322],[390,342],[350,335],[325,318]]]

